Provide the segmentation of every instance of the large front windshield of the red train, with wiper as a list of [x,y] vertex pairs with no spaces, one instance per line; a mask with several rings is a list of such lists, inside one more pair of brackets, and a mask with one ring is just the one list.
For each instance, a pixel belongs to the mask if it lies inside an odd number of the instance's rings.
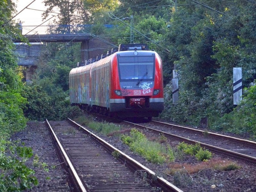
[[121,81],[153,81],[155,56],[119,56],[118,65]]

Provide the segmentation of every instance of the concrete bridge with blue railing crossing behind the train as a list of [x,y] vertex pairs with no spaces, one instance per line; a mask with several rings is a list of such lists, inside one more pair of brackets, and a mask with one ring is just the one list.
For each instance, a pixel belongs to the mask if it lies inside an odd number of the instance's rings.
[[[118,49],[116,45],[90,33],[92,25],[44,25],[22,26],[22,34],[28,38],[31,46],[15,40],[16,52],[19,55],[18,65],[27,67],[26,81],[29,82],[36,69],[37,58],[45,43],[81,42],[81,63],[102,54],[102,49]],[[114,28],[113,25],[100,27]],[[97,48],[101,48],[98,49]],[[93,50],[93,51],[92,51]],[[107,53],[107,52],[106,52]],[[75,67],[75,64],[74,64]]]

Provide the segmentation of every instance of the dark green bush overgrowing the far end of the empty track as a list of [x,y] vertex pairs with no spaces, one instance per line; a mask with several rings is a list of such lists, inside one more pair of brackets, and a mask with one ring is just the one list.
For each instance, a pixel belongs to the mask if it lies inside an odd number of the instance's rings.
[[67,92],[56,89],[49,78],[44,78],[39,85],[25,86],[23,96],[28,99],[24,114],[31,120],[63,120],[81,114],[79,108],[70,106]]

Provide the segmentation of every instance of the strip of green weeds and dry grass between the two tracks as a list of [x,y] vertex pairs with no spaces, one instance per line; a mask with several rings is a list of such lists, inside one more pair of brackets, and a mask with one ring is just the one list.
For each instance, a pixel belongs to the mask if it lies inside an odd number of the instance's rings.
[[[225,161],[220,158],[212,158],[212,153],[205,150],[200,144],[189,145],[181,142],[175,148],[171,148],[167,143],[167,138],[160,135],[155,141],[150,141],[147,137],[135,128],[123,129],[121,126],[112,123],[99,123],[85,119],[82,121],[91,129],[101,132],[108,136],[119,136],[124,144],[143,156],[147,161],[154,164],[168,164],[166,174],[172,175],[173,182],[177,186],[191,185],[193,178],[190,174],[199,174],[202,170],[222,170],[230,171],[240,169],[241,167],[232,161]],[[127,135],[129,134],[129,135]],[[175,163],[175,159],[182,159],[187,154],[194,156],[199,162],[196,164]],[[112,156],[118,158],[119,153],[112,153]],[[141,176],[141,175],[140,175]]]

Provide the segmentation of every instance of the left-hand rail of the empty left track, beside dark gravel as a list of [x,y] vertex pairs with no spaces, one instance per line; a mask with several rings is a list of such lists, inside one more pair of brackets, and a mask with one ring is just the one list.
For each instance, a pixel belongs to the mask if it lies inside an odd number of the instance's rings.
[[66,164],[65,169],[69,172],[69,176],[71,176],[72,181],[74,181],[73,185],[75,187],[75,191],[86,192],[86,189],[84,187],[82,180],[79,178],[72,162],[70,161],[67,153],[65,152],[64,148],[62,147],[59,139],[57,138],[57,135],[54,133],[54,131],[47,119],[45,119],[45,124],[48,127],[50,135],[52,136],[52,139],[54,141],[53,143],[54,143],[55,147],[59,149],[59,150],[57,150],[59,158],[61,159],[61,161],[65,162],[65,164]]

